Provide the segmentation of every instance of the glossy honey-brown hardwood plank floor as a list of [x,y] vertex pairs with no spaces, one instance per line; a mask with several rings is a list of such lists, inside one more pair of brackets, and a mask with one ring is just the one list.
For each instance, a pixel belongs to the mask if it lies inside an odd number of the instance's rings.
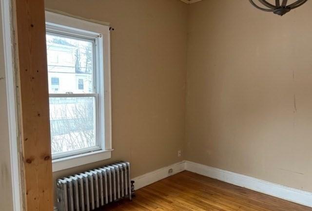
[[196,173],[182,172],[136,191],[101,211],[312,211]]

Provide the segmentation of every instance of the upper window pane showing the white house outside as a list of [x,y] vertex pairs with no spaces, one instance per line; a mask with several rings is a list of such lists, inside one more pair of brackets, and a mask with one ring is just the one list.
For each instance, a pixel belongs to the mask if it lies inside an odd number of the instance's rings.
[[[94,40],[47,34],[47,59],[50,94],[94,93]],[[58,78],[57,88],[56,80]]]

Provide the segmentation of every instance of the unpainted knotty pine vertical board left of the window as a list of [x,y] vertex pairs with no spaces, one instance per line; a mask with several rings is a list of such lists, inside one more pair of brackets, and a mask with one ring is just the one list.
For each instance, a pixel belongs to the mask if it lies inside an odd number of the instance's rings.
[[15,0],[26,211],[52,211],[44,0]]

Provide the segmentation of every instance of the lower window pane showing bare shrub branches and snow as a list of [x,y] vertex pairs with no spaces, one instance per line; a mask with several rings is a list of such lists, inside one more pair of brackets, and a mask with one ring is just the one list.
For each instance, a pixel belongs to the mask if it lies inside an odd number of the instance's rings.
[[95,97],[50,97],[52,154],[97,146]]

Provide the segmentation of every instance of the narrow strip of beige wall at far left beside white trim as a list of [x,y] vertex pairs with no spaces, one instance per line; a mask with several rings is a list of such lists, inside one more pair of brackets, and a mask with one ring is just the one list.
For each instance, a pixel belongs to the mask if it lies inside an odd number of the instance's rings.
[[13,211],[10,142],[0,5],[0,210]]

